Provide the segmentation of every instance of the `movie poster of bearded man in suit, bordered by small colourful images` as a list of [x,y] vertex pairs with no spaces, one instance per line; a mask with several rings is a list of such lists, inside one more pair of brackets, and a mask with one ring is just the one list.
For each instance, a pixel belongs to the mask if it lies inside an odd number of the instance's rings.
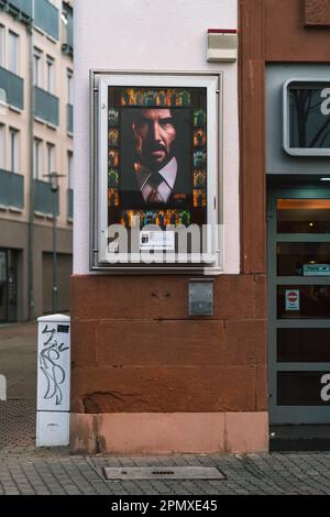
[[[108,92],[108,224],[130,229],[139,220],[141,231],[206,224],[207,89],[110,86]],[[161,238],[154,238],[158,248]],[[174,245],[165,241],[164,249]]]

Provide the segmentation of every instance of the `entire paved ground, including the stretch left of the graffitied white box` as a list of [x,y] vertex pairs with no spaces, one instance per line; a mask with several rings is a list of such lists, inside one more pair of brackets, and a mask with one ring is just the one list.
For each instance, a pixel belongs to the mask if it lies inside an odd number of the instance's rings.
[[[330,452],[248,455],[70,455],[35,449],[36,324],[0,327],[0,373],[8,400],[0,402],[0,494],[217,495],[328,494]],[[103,468],[213,466],[219,481],[107,481]]]

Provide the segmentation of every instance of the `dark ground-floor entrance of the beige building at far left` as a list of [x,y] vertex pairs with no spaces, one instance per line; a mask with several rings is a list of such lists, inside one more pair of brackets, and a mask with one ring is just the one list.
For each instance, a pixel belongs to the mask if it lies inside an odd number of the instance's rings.
[[16,252],[0,249],[0,322],[16,321]]

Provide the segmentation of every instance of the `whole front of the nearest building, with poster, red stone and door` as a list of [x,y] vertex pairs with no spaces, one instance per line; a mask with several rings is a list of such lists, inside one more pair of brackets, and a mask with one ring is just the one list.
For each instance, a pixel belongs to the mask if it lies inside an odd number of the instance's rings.
[[[329,424],[329,1],[94,6],[75,3],[73,450],[267,451],[270,425]],[[179,263],[189,223],[216,244]]]

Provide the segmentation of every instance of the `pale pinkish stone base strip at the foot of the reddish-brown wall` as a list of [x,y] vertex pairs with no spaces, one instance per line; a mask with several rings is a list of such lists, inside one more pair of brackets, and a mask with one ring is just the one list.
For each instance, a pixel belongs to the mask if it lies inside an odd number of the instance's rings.
[[117,454],[268,451],[268,414],[72,414],[73,452]]

